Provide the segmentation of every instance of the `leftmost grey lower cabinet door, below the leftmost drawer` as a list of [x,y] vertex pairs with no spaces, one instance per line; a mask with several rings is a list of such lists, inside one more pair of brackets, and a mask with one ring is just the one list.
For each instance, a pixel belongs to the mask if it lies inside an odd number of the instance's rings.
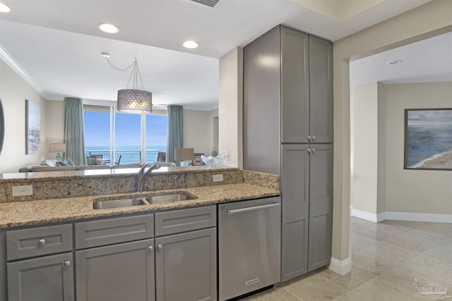
[[9,262],[9,301],[72,301],[72,253]]

